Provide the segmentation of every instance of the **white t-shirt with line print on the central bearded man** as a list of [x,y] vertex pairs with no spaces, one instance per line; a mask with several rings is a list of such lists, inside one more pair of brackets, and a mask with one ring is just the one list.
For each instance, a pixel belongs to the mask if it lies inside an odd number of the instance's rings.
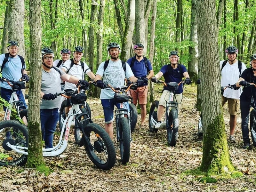
[[[105,85],[110,84],[112,87],[124,86],[125,77],[129,79],[134,76],[132,69],[128,63],[126,64],[125,74],[122,66],[122,61],[119,59],[117,61],[109,60],[108,67],[104,71],[104,62],[100,63],[100,66],[96,72],[96,75],[103,77],[103,82]],[[113,99],[115,92],[112,89],[101,89],[100,99]]]

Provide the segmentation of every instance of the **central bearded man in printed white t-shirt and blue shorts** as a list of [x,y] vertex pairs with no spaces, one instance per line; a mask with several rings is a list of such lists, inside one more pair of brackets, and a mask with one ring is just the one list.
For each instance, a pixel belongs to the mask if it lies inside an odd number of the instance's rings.
[[[96,72],[94,81],[97,87],[102,90],[100,92],[101,105],[103,106],[105,116],[105,130],[108,132],[111,139],[113,139],[113,120],[114,120],[114,105],[120,108],[120,103],[116,103],[114,100],[114,92],[111,89],[103,89],[105,85],[110,84],[113,87],[124,86],[125,77],[132,82],[137,82],[138,86],[143,86],[143,80],[136,78],[128,63],[125,63],[126,69],[124,71],[122,61],[118,58],[121,52],[121,47],[116,42],[108,44],[107,47],[110,60],[108,60],[108,67],[104,70],[104,64],[102,62]],[[103,77],[103,81],[101,80]],[[124,103],[124,106],[129,110],[128,102]]]

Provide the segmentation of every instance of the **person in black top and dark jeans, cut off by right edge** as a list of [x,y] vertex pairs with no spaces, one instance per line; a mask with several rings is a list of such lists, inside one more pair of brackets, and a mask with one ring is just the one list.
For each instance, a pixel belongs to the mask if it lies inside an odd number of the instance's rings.
[[[238,81],[236,82],[236,86],[243,86],[243,92],[240,95],[240,110],[241,110],[241,127],[244,145],[242,148],[248,149],[250,148],[250,138],[249,138],[249,113],[251,106],[256,108],[256,88],[254,86],[247,86],[248,83],[256,84],[256,54],[250,56],[250,68],[244,70]],[[256,138],[252,138],[256,140]]]

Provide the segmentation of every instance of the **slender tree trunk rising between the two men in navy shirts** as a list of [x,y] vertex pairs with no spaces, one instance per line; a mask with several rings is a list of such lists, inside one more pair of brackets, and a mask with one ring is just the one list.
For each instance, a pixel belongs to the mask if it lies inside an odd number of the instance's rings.
[[[149,42],[149,60],[151,61],[152,68],[154,63],[155,28],[156,28],[156,1],[153,1],[151,28],[150,28],[150,42]],[[154,90],[153,83],[151,81],[148,81],[148,83],[149,83],[149,102],[148,103],[150,103],[155,100],[155,90]]]

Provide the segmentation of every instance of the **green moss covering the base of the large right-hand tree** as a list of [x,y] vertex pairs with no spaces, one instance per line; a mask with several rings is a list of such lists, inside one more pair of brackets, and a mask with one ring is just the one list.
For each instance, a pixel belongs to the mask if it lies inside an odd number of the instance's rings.
[[214,123],[205,128],[203,143],[201,171],[207,172],[207,175],[216,175],[235,170],[228,151],[222,115],[217,116]]

